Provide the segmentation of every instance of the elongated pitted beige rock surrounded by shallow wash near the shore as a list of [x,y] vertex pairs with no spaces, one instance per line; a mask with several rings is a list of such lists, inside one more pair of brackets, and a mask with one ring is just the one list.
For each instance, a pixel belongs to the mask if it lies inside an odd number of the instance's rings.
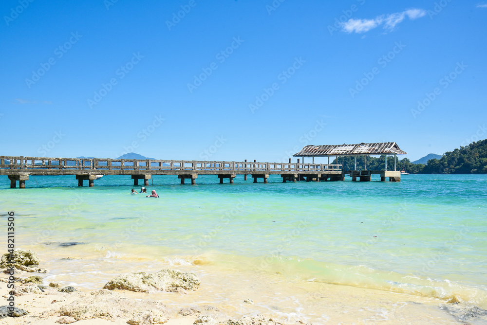
[[155,273],[123,273],[110,280],[103,289],[123,289],[136,292],[162,290],[171,292],[181,291],[181,289],[196,290],[199,285],[200,279],[194,273],[161,270]]

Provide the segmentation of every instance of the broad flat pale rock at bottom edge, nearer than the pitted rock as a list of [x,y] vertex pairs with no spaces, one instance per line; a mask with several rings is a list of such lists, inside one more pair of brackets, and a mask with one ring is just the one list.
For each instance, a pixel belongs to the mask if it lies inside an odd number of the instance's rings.
[[109,290],[93,291],[69,306],[60,307],[58,314],[72,317],[76,321],[101,318],[113,322],[117,318],[130,319],[132,323],[129,324],[137,325],[163,324],[169,320],[168,310],[162,303],[135,301]]

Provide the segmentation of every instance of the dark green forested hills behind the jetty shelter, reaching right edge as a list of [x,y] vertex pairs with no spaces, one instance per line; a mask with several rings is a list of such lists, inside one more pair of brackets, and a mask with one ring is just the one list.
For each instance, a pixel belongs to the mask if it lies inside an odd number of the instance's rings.
[[[367,156],[368,170],[383,170],[385,156]],[[343,164],[345,170],[353,170],[354,157],[339,157],[333,163]],[[396,157],[396,169],[403,165],[410,174],[487,174],[487,139],[472,142],[467,146],[446,152],[440,159],[430,159],[428,164],[412,163],[408,158],[399,160]],[[357,170],[364,170],[365,159],[357,157]],[[394,157],[387,157],[387,170],[394,170]]]

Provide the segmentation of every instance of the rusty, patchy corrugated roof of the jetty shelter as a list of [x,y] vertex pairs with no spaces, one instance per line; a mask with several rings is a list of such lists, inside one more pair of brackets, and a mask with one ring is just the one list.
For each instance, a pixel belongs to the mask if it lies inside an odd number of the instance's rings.
[[381,142],[375,144],[331,144],[331,145],[306,145],[294,157],[317,156],[346,156],[346,155],[381,155],[396,154],[405,155],[395,142]]

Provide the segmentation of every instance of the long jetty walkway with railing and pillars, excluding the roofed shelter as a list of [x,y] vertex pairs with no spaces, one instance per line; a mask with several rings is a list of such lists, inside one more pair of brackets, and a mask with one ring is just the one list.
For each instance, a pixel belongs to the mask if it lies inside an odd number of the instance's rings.
[[[29,176],[75,175],[78,186],[88,181],[89,186],[99,175],[131,176],[134,185],[143,180],[149,185],[153,175],[173,175],[185,184],[190,180],[196,183],[198,175],[216,175],[220,183],[228,179],[233,183],[237,175],[247,175],[254,183],[262,179],[264,183],[270,175],[281,175],[286,181],[343,181],[345,171],[339,164],[319,164],[298,162],[206,162],[176,160],[126,160],[126,159],[79,159],[79,158],[45,158],[45,157],[9,157],[0,156],[0,175],[8,176],[10,187],[25,188]],[[399,175],[400,177],[400,175]]]

